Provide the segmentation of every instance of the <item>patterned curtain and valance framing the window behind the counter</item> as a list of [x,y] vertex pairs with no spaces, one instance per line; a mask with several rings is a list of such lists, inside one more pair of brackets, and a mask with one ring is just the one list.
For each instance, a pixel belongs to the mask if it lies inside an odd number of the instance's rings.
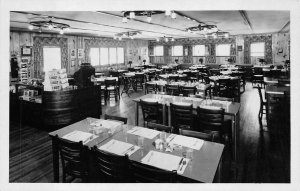
[[68,72],[68,40],[67,38],[57,37],[33,37],[33,67],[34,77],[42,77],[44,71],[44,46],[56,46],[61,50],[61,64],[62,68],[66,68]]

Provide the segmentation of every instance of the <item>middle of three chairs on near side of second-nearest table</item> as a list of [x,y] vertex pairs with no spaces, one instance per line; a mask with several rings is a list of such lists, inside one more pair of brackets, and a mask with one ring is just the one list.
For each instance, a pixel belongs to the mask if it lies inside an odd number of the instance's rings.
[[171,125],[174,133],[178,133],[180,128],[191,129],[193,123],[193,107],[190,105],[177,105],[170,103]]

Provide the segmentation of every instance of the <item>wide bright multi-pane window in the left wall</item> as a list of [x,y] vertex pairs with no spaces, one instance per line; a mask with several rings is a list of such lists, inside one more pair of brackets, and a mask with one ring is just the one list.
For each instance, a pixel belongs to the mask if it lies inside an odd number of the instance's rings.
[[124,63],[124,48],[91,48],[92,66]]

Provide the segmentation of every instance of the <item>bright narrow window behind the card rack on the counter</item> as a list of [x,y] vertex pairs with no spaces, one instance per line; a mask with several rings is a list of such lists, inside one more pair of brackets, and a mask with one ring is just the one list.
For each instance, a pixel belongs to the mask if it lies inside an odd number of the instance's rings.
[[44,72],[52,69],[61,69],[61,53],[60,48],[47,47],[43,48],[44,54]]

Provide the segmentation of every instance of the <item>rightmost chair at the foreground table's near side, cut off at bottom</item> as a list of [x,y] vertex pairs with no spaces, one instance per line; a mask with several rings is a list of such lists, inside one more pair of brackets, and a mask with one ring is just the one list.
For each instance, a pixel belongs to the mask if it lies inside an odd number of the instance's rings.
[[133,179],[138,183],[175,183],[176,171],[166,171],[141,162],[131,161]]

